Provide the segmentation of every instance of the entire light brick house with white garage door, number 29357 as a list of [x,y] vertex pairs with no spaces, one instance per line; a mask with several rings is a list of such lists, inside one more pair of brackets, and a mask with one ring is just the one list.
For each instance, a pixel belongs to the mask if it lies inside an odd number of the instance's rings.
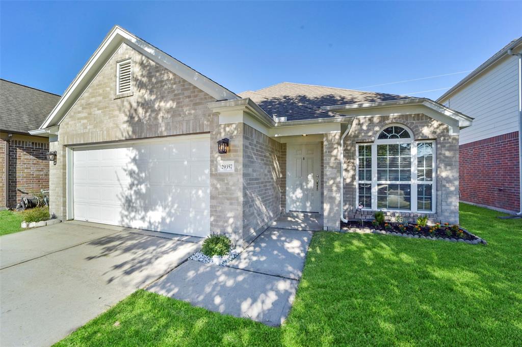
[[292,210],[339,230],[359,202],[457,223],[470,125],[424,98],[295,83],[235,94],[116,26],[31,133],[57,152],[57,216],[241,244]]

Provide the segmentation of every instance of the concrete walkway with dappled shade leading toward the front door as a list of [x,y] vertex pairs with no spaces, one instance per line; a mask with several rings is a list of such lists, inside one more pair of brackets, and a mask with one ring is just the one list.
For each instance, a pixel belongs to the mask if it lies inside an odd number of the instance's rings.
[[279,326],[290,312],[311,239],[310,231],[267,229],[229,267],[187,261],[147,290]]

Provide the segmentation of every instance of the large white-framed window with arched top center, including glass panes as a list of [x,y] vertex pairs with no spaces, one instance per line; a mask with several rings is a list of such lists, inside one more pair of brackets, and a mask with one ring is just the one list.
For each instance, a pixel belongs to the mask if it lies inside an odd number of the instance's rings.
[[374,143],[359,144],[357,203],[373,210],[435,212],[434,141],[388,125]]

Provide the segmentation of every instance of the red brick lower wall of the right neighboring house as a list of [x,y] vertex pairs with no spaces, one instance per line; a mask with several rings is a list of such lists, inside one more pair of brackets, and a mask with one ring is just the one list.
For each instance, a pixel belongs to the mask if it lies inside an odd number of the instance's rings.
[[518,212],[518,158],[518,131],[460,145],[460,200]]

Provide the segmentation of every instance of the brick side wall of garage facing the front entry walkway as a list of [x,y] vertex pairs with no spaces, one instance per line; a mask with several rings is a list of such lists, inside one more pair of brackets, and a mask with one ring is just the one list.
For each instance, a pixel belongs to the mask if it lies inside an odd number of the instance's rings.
[[[243,239],[263,232],[281,213],[281,143],[243,125]],[[284,146],[286,151],[286,146]]]

